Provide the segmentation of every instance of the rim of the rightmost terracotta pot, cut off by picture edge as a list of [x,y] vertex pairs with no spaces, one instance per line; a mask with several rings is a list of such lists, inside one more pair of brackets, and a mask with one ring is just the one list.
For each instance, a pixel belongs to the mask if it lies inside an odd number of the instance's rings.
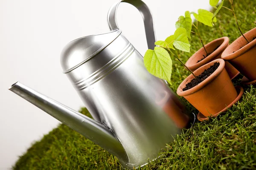
[[[247,34],[250,34],[251,32],[255,32],[254,35],[256,37],[256,27],[251,29],[250,31],[244,33],[244,36],[246,37]],[[240,44],[241,41],[244,40],[244,37],[241,35],[240,37],[238,37],[234,42],[232,42],[221,54],[221,58],[225,59],[225,60],[231,60],[231,59],[235,59],[239,56],[241,56],[242,54],[246,53],[247,51],[249,51],[250,49],[252,49],[254,46],[256,46],[256,39],[254,39],[253,41],[249,42],[248,44],[244,45],[242,48],[240,48],[239,50],[235,51],[234,53],[231,52],[233,50],[231,50],[233,48],[233,46],[235,46],[236,44]]]

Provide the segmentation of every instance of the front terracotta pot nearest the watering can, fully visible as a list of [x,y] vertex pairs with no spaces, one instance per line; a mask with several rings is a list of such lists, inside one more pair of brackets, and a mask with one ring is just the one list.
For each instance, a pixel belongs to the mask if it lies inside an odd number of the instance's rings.
[[191,103],[199,112],[208,117],[218,113],[232,103],[237,92],[227,74],[225,62],[223,59],[215,59],[206,65],[201,66],[193,73],[195,76],[200,75],[205,69],[209,68],[215,62],[219,62],[218,68],[200,84],[195,87],[183,91],[186,84],[195,77],[190,74],[178,87],[177,94],[183,96]]

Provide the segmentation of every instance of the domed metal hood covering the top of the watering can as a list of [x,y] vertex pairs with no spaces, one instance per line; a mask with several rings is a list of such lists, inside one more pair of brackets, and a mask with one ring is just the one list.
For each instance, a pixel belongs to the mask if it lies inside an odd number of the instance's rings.
[[63,72],[68,73],[92,59],[111,44],[121,32],[117,29],[105,34],[90,35],[69,42],[61,52]]

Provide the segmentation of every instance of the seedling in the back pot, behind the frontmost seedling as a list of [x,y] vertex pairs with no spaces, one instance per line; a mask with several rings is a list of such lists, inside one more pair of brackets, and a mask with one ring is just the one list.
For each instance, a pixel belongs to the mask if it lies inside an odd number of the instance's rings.
[[[196,19],[196,25],[194,23],[192,23],[192,19],[191,19],[191,14],[194,15],[195,19]],[[213,19],[212,19],[213,18]],[[207,11],[205,9],[198,9],[198,14],[196,14],[195,12],[189,12],[189,11],[186,11],[185,12],[185,17],[184,16],[180,16],[178,21],[176,22],[176,28],[180,28],[180,27],[183,27],[187,30],[187,37],[188,38],[191,38],[190,36],[190,32],[191,32],[191,29],[192,29],[192,25],[195,27],[195,29],[197,30],[198,32],[198,36],[201,40],[201,44],[203,45],[204,47],[204,43],[203,43],[203,40],[201,38],[201,34],[200,34],[200,31],[198,29],[198,21],[200,23],[203,23],[204,25],[207,25],[207,26],[213,26],[213,22],[216,22],[216,17],[214,16],[214,14],[210,11]],[[207,57],[209,55],[209,53],[207,52],[206,48],[204,47],[204,51],[206,52],[206,56]]]

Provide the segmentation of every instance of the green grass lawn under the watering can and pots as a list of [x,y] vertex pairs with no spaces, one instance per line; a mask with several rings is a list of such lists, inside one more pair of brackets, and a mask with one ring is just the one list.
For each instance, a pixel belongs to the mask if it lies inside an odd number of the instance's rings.
[[[241,30],[246,32],[256,27],[256,0],[234,1]],[[227,0],[224,6],[229,6]],[[199,25],[205,43],[223,36],[233,42],[240,36],[230,11],[222,8],[217,19],[215,27]],[[201,48],[195,35],[192,35],[191,45],[190,54],[180,53],[183,62]],[[173,65],[171,88],[176,91],[189,72],[175,59]],[[241,76],[234,80],[234,84],[239,85],[240,81]],[[243,98],[227,113],[209,122],[196,122],[186,133],[166,145],[168,150],[161,153],[163,157],[139,169],[256,169],[256,88],[243,87]],[[197,113],[185,99],[181,99],[191,111]],[[81,113],[89,115],[85,108],[81,109]],[[122,167],[116,157],[66,125],[59,125],[20,156],[13,169],[121,170]]]

